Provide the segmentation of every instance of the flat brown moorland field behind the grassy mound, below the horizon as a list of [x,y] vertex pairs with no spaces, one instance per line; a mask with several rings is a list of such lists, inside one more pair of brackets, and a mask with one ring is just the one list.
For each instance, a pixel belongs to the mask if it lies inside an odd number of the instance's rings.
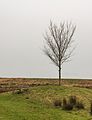
[[[20,88],[29,88],[41,85],[58,85],[58,79],[43,78],[0,78],[0,92],[12,91]],[[63,79],[63,86],[92,88],[92,80]]]

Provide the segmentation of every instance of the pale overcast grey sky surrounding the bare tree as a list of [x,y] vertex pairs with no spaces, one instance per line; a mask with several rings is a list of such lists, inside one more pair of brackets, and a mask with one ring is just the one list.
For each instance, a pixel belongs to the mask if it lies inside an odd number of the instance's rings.
[[42,52],[50,19],[77,26],[77,48],[63,77],[92,78],[92,0],[0,0],[1,77],[58,77]]

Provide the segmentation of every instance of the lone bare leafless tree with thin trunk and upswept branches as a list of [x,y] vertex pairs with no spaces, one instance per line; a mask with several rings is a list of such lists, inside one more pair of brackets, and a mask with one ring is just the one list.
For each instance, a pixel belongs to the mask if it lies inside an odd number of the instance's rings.
[[59,68],[59,85],[61,85],[61,67],[71,57],[73,35],[76,26],[72,23],[61,22],[59,26],[50,21],[49,31],[45,33],[44,53]]

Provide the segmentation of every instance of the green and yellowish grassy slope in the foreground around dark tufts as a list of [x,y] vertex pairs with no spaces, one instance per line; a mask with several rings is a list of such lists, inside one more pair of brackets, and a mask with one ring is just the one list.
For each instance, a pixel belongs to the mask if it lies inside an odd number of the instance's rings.
[[[85,110],[64,111],[53,107],[54,99],[76,95]],[[29,99],[26,99],[29,97]],[[0,120],[91,120],[89,101],[92,90],[76,87],[38,86],[27,94],[0,94]]]

